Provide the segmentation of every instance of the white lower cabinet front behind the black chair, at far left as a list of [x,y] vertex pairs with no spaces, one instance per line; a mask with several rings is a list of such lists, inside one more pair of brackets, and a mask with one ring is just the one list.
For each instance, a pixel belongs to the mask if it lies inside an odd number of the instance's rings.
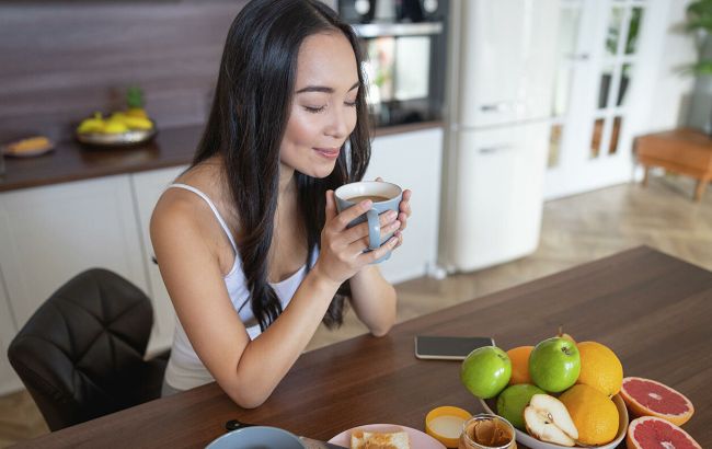
[[147,290],[128,175],[0,195],[0,268],[16,330],[55,290],[92,267]]

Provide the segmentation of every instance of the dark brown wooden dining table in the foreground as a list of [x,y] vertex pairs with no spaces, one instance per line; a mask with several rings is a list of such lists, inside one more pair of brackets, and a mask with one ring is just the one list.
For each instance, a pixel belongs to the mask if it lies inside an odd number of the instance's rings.
[[423,430],[437,406],[482,407],[460,383],[460,361],[415,358],[415,335],[492,336],[506,350],[551,337],[560,325],[578,342],[613,349],[624,376],[687,395],[696,414],[682,428],[712,447],[712,273],[647,246],[403,322],[383,337],[305,353],[254,410],[210,383],[20,446],[205,447],[230,419],[320,440],[371,423]]

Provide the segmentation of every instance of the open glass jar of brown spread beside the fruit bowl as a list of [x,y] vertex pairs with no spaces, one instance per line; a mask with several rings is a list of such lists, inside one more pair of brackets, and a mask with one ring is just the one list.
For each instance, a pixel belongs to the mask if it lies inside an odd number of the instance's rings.
[[462,424],[458,449],[516,449],[514,427],[502,416],[480,414]]

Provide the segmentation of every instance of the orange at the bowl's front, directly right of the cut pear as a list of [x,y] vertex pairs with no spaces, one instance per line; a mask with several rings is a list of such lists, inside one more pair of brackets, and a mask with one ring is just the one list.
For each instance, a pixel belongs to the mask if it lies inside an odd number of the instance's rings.
[[576,384],[566,390],[563,402],[578,429],[578,442],[605,445],[618,434],[618,408],[613,401],[597,389]]

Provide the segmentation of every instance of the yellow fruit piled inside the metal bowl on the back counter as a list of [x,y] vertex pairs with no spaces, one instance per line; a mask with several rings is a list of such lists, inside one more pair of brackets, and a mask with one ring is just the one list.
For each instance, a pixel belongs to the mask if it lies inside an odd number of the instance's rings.
[[130,88],[126,94],[127,110],[115,112],[108,117],[94,113],[93,117],[83,119],[77,127],[77,134],[124,134],[129,131],[153,129],[153,122],[143,108],[142,92],[138,88]]

